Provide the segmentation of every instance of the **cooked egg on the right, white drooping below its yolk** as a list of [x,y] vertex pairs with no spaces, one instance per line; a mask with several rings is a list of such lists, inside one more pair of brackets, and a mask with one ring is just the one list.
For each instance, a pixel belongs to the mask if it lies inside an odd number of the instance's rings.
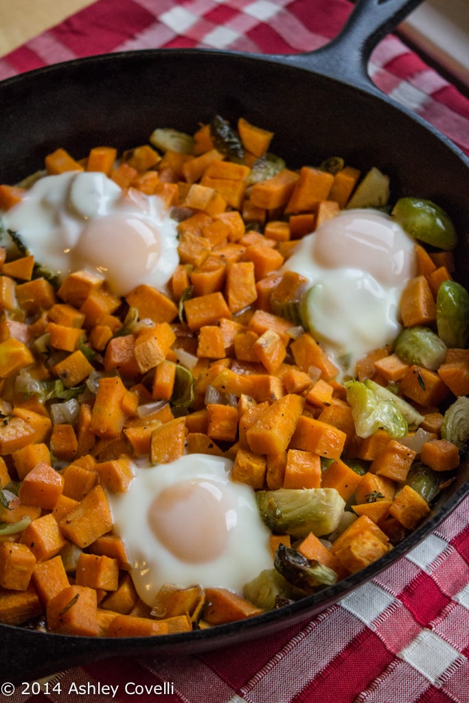
[[399,333],[399,301],[416,275],[415,241],[389,215],[352,209],[305,236],[284,269],[309,280],[311,333],[341,374],[354,376],[356,361]]

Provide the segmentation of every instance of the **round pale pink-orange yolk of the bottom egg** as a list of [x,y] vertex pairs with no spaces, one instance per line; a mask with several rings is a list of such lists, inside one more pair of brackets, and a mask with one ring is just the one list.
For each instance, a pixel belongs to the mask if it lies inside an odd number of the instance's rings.
[[219,486],[212,482],[174,484],[150,504],[148,524],[175,557],[188,563],[209,562],[226,547],[229,520],[223,502]]

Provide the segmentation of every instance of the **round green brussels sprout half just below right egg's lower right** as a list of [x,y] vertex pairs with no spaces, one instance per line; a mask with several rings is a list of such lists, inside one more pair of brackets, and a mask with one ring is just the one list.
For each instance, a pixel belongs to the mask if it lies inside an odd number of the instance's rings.
[[407,327],[399,333],[394,352],[406,363],[436,371],[446,356],[446,344],[428,327]]

